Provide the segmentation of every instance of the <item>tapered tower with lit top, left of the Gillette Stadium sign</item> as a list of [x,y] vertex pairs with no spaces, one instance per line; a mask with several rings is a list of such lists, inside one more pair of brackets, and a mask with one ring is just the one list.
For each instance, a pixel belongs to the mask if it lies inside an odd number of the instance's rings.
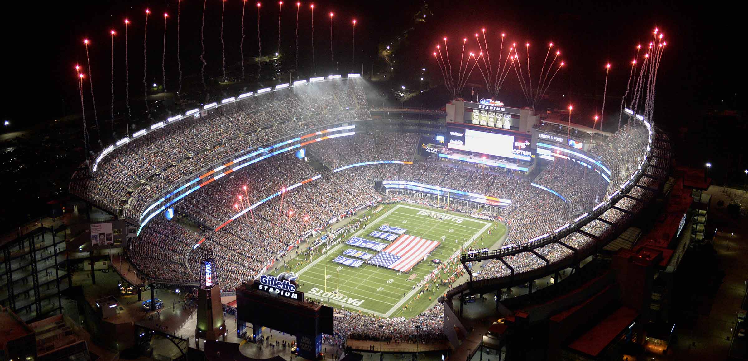
[[216,283],[213,250],[205,249],[200,262],[200,287],[197,289],[197,325],[194,328],[195,347],[200,349],[200,339],[226,341],[226,323],[221,307],[221,287]]

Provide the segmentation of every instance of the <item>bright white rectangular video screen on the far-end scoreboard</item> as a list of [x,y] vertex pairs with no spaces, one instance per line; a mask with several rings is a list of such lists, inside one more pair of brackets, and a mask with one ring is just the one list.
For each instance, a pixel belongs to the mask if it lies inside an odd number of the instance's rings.
[[515,158],[514,137],[472,129],[449,129],[450,149],[477,152],[497,157]]

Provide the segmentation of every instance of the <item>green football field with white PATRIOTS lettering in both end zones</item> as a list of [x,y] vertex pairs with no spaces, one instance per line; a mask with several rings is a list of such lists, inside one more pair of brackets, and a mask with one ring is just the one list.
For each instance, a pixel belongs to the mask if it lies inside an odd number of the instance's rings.
[[[427,256],[426,260],[419,258],[419,262],[408,273],[371,265],[367,263],[367,259],[343,254],[346,250],[360,251],[359,254],[361,252],[370,255],[379,253],[379,250],[345,242],[358,237],[366,241],[389,244],[390,240],[370,235],[375,231],[381,232],[379,227],[383,225],[406,229],[404,237],[415,236],[441,243]],[[494,227],[497,228],[494,229]],[[494,229],[490,236],[488,236],[488,229]],[[386,212],[375,215],[366,227],[346,236],[325,254],[306,263],[297,272],[298,282],[307,298],[316,298],[325,303],[331,303],[332,306],[343,305],[346,309],[358,309],[381,317],[415,315],[423,312],[423,309],[432,303],[428,298],[432,295],[431,291],[424,300],[411,304],[411,309],[403,310],[402,306],[420,291],[420,289],[414,289],[414,286],[438,266],[433,262],[434,259],[440,261],[448,259],[462,246],[463,240],[465,244],[470,244],[470,248],[490,247],[505,232],[506,227],[501,223],[496,225],[494,222],[454,212],[446,213],[439,209],[397,204]],[[485,236],[481,237],[484,233]],[[396,247],[387,248],[385,251],[393,248]],[[363,264],[352,267],[333,262],[336,258],[340,259],[340,256],[361,261]],[[444,290],[446,287],[438,289],[433,300]]]

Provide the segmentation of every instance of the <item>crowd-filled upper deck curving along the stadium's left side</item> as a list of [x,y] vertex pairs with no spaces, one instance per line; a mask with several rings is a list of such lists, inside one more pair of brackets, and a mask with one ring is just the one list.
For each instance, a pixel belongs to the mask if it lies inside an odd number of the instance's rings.
[[91,177],[73,179],[70,191],[138,220],[149,200],[181,185],[175,181],[191,180],[230,155],[319,126],[370,118],[357,79],[289,87],[196,115],[114,149]]

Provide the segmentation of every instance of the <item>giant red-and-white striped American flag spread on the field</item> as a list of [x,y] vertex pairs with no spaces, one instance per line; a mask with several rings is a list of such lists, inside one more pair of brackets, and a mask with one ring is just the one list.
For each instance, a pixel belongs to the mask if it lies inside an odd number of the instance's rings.
[[429,241],[414,235],[401,235],[390,243],[380,253],[377,253],[368,263],[400,272],[407,272],[418,262],[423,261],[439,242]]

